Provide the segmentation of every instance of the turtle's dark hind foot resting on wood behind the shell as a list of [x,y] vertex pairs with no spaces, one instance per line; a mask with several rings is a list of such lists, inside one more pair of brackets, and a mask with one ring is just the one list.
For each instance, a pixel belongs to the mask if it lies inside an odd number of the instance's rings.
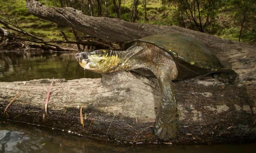
[[229,69],[224,72],[214,73],[212,74],[212,76],[217,81],[234,84],[234,81],[236,80],[237,77],[237,73],[234,70]]

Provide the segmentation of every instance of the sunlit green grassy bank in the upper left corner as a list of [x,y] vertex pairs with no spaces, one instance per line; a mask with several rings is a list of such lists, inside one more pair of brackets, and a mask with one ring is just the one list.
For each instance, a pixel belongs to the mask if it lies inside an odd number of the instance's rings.
[[[64,31],[67,38],[74,40],[74,34],[68,27],[59,27],[56,23],[46,21],[31,15],[27,8],[25,0],[1,0],[0,17],[3,19],[11,19],[16,21],[18,26],[38,37],[42,37],[44,40],[64,40],[61,31]],[[48,5],[48,1],[44,1]],[[1,27],[4,27],[0,24]],[[13,31],[11,31],[13,32]],[[15,32],[16,33],[16,32]]]

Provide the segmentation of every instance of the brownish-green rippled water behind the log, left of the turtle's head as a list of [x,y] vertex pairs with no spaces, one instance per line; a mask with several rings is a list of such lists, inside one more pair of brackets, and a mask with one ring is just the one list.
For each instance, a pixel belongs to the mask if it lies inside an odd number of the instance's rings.
[[74,53],[61,52],[0,52],[0,81],[28,81],[32,79],[100,78],[101,75],[84,71]]

